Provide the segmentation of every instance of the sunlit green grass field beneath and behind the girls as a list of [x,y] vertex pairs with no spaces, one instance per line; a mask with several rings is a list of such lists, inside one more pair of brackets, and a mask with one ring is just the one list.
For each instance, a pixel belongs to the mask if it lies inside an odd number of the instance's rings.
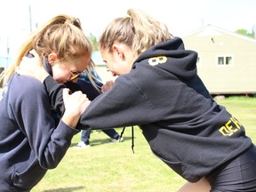
[[[218,100],[244,124],[256,142],[256,98],[232,97]],[[121,132],[122,129],[116,129]],[[124,142],[109,143],[100,132],[91,134],[91,148],[72,148],[80,140],[78,133],[59,166],[46,173],[32,192],[175,192],[186,180],[156,158],[140,129],[135,127],[132,153],[132,129],[126,128]]]

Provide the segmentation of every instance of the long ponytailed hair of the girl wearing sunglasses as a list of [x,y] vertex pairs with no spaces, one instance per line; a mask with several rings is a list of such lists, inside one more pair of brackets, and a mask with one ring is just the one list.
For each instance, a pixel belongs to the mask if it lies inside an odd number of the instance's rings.
[[[66,14],[60,14],[49,20],[41,28],[37,28],[27,41],[21,45],[20,51],[14,62],[1,74],[4,84],[10,79],[15,69],[20,65],[22,57],[26,56],[31,49],[35,49],[39,56],[46,57],[55,52],[58,60],[67,61],[87,54],[92,55],[92,44],[84,35],[80,20]],[[91,74],[94,63],[90,60],[86,72]]]

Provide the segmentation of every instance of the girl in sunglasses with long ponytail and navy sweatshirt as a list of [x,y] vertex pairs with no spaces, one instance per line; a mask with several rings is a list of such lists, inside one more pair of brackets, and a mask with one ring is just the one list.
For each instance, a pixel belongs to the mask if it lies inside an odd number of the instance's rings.
[[[21,60],[34,57],[58,83],[76,81],[90,68],[92,45],[84,36],[80,20],[57,15],[38,28],[20,47],[6,70],[0,95],[0,191],[28,192],[65,156],[76,124],[90,103],[82,92],[63,92],[65,111],[55,124],[52,103],[37,79],[15,72]],[[23,58],[23,59],[22,59]],[[28,60],[27,60],[28,61]],[[30,70],[31,68],[23,68]],[[90,69],[88,70],[90,71]],[[41,74],[34,74],[40,78]]]

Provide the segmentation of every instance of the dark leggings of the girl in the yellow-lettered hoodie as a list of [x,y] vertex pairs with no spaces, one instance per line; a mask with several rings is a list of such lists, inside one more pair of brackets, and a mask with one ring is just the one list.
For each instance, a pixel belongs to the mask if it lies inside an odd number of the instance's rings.
[[255,192],[256,191],[256,148],[248,148],[228,164],[220,166],[206,177],[211,192]]

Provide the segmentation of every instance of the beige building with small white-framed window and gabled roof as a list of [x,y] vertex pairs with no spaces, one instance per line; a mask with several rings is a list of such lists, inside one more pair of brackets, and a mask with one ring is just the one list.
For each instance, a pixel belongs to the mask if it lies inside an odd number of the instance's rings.
[[207,26],[182,37],[212,94],[256,93],[256,39]]

